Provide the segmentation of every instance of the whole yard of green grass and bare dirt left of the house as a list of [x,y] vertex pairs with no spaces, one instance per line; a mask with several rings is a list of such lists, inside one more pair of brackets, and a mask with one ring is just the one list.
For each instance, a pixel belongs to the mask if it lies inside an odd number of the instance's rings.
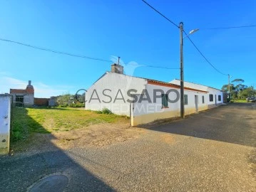
[[16,152],[105,146],[143,132],[130,127],[128,117],[116,114],[68,107],[14,108],[11,146]]

